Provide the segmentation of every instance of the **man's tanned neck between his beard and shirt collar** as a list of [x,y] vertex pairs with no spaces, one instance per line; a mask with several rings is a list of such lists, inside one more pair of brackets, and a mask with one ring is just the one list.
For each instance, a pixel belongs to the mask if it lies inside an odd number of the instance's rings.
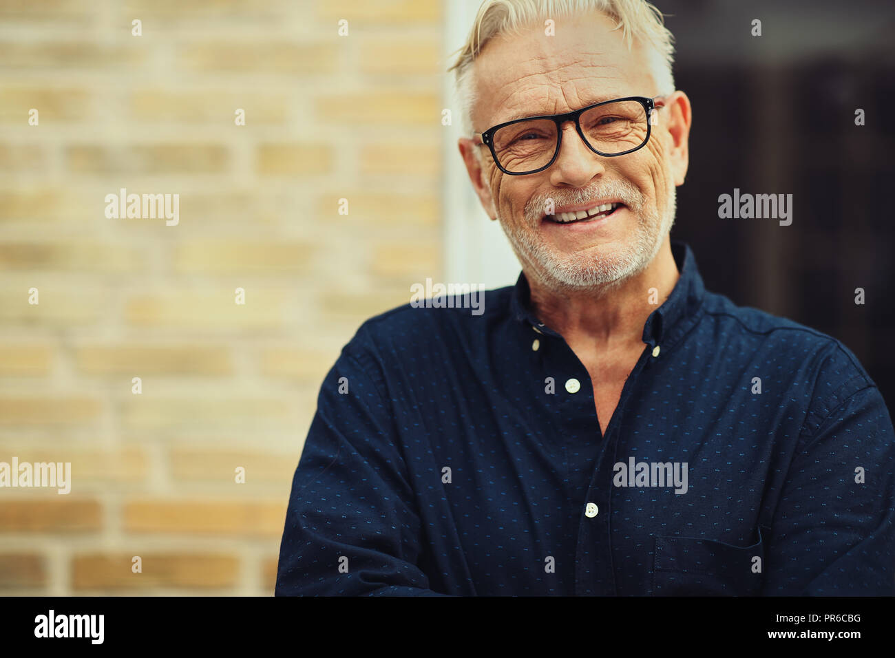
[[614,286],[556,291],[536,278],[526,278],[533,311],[541,322],[558,331],[570,346],[614,351],[643,342],[646,319],[668,298],[679,276],[666,235],[649,265]]

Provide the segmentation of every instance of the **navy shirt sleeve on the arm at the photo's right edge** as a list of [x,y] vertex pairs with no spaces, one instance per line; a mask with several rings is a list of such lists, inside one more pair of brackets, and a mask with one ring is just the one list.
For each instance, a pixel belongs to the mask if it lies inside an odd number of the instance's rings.
[[895,594],[895,432],[858,374],[809,414],[765,552],[765,595]]

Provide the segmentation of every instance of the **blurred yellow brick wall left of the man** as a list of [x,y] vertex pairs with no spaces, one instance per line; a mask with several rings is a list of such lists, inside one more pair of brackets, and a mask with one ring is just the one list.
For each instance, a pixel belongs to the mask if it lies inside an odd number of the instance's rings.
[[0,488],[0,594],[272,594],[320,381],[442,271],[441,11],[0,0],[0,462],[72,464]]

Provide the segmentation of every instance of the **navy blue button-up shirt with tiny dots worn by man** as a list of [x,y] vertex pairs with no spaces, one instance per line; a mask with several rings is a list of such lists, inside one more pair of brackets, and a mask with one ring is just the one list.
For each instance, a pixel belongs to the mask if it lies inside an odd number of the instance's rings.
[[481,314],[364,322],[320,389],[276,594],[893,594],[874,382],[672,252],[680,278],[605,432],[524,275]]

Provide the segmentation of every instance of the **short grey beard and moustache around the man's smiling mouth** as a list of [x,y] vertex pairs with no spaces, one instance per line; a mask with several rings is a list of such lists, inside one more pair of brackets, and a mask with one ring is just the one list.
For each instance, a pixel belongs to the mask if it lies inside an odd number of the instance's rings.
[[[671,172],[668,172],[670,174]],[[508,223],[499,214],[500,226],[507,235],[516,258],[523,268],[528,265],[535,277],[552,290],[592,290],[618,286],[626,278],[642,271],[659,253],[665,236],[674,224],[677,210],[677,190],[670,176],[666,190],[668,207],[664,216],[655,207],[645,208],[643,194],[626,180],[609,181],[592,189],[581,188],[569,194],[552,192],[550,195],[533,197],[524,209],[524,225]],[[598,198],[620,199],[639,219],[632,240],[620,249],[601,253],[596,258],[583,253],[557,252],[539,239],[536,229],[540,226],[548,199],[558,206],[587,203]]]

